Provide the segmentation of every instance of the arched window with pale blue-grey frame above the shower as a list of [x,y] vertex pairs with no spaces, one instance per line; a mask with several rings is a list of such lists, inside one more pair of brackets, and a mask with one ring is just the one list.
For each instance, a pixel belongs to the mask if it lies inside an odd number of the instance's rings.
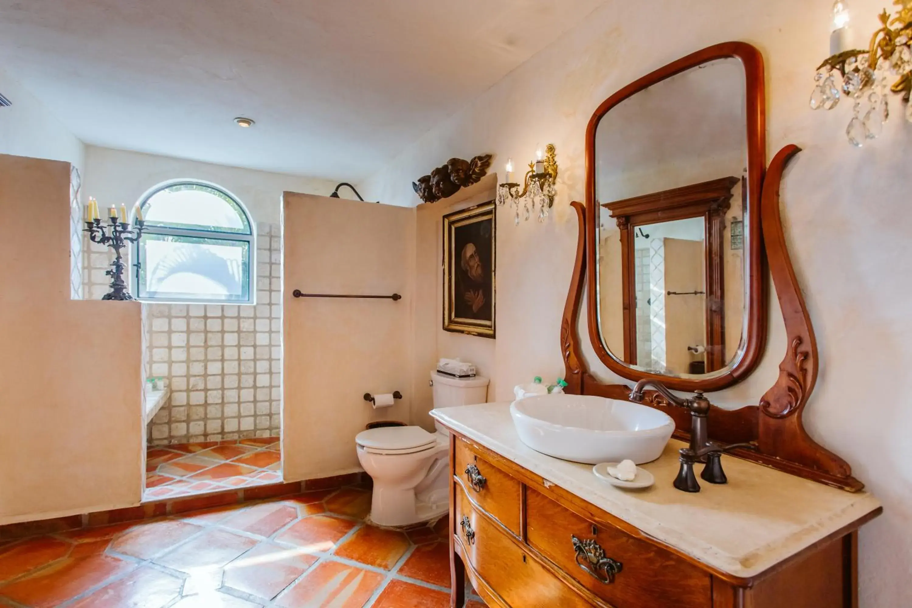
[[140,300],[253,303],[254,231],[240,201],[214,184],[171,181],[140,208]]

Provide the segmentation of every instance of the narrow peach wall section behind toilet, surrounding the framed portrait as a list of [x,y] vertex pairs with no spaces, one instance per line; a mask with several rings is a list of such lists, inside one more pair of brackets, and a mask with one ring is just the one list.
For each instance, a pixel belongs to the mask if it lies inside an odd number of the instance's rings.
[[[471,361],[481,376],[492,378],[488,395],[493,397],[495,383],[494,345],[496,340],[477,335],[456,334],[443,330],[443,216],[461,211],[482,202],[491,201],[495,195],[496,178],[485,177],[470,188],[463,189],[449,199],[416,208],[415,231],[415,318],[414,318],[414,372],[415,399],[411,407],[411,423],[428,430],[434,428],[429,412],[433,408],[433,392],[428,382],[430,370],[437,366],[440,357],[460,357]],[[503,222],[503,215],[499,218]],[[512,228],[513,222],[498,232]],[[495,261],[496,263],[496,261]],[[496,272],[496,267],[495,267]],[[495,331],[496,331],[495,327]]]

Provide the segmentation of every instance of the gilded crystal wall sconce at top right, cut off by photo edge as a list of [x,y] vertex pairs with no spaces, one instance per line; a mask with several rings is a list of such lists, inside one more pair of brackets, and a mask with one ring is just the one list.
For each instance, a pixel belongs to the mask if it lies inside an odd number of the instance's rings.
[[[902,95],[906,119],[912,122],[912,0],[894,0],[893,4],[899,6],[896,15],[891,18],[884,9],[879,15],[881,27],[865,50],[850,47],[848,7],[845,0],[836,0],[831,55],[820,64],[814,77],[817,84],[811,93],[812,109],[833,109],[844,95],[854,101],[845,135],[859,148],[866,139],[875,139],[883,132],[890,116],[890,91]],[[890,86],[888,79],[894,77]]]

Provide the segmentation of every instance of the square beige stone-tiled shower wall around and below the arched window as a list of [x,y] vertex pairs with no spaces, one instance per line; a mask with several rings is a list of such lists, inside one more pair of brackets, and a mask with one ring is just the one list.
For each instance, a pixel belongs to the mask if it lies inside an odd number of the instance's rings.
[[[256,304],[142,304],[148,377],[171,397],[152,418],[150,444],[274,437],[281,432],[282,239],[256,227]],[[108,293],[107,247],[84,242],[83,293]]]

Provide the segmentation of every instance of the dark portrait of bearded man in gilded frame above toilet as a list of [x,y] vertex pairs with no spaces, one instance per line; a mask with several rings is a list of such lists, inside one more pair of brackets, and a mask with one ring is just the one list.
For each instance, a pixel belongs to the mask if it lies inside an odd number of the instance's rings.
[[443,329],[494,337],[494,201],[443,216]]

